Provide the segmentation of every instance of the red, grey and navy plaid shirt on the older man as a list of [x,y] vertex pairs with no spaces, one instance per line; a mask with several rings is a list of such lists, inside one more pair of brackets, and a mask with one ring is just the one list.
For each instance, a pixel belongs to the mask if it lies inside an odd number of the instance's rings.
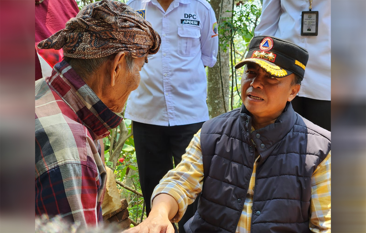
[[122,118],[66,62],[36,81],[36,214],[102,221],[106,171],[98,139]]

